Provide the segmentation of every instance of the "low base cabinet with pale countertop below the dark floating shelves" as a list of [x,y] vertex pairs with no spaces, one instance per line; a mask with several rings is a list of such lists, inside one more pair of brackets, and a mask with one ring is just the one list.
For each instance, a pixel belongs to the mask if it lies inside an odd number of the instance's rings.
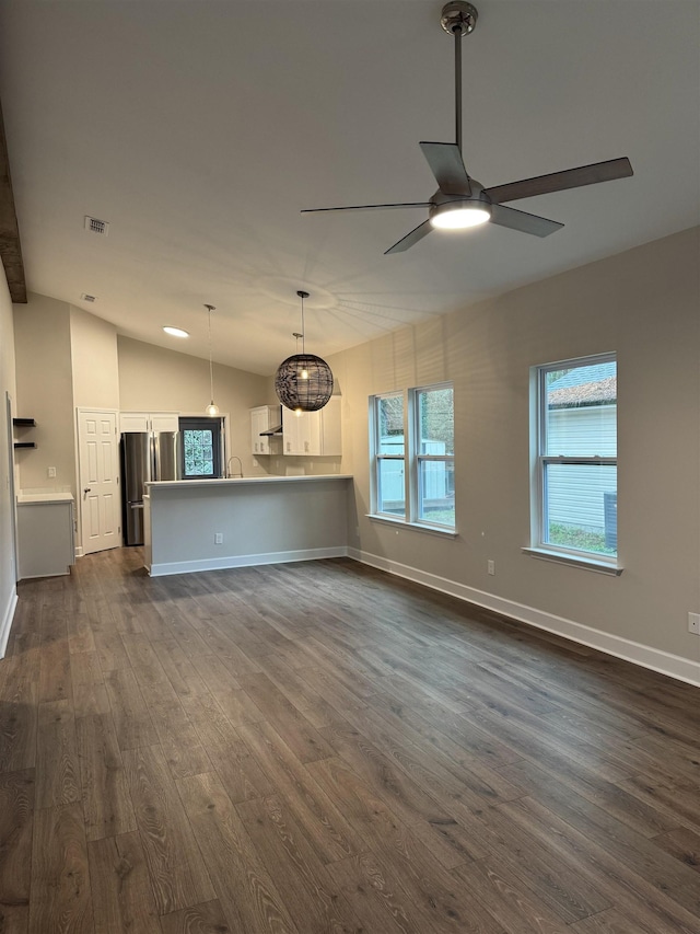
[[18,556],[20,580],[70,574],[75,563],[70,493],[18,496]]

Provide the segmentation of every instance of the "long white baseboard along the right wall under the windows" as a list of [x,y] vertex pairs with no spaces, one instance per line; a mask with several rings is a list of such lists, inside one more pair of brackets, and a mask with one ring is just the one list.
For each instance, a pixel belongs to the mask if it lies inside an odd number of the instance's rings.
[[362,564],[369,564],[371,567],[376,567],[380,570],[395,574],[397,577],[405,577],[407,580],[412,580],[416,584],[423,584],[433,590],[440,590],[442,593],[450,593],[459,600],[476,603],[478,607],[483,607],[495,613],[502,613],[504,616],[510,616],[510,619],[517,620],[521,623],[527,623],[536,629],[556,633],[563,638],[571,639],[581,645],[587,645],[590,648],[596,648],[599,652],[605,652],[607,655],[614,655],[616,658],[631,661],[642,668],[649,668],[652,671],[658,671],[678,681],[686,681],[688,684],[700,687],[700,661],[691,661],[688,658],[672,655],[660,648],[652,648],[651,646],[632,642],[621,636],[605,633],[602,630],[594,630],[573,620],[556,616],[553,613],[536,610],[534,607],[527,607],[523,603],[516,603],[513,600],[505,600],[503,597],[488,593],[485,590],[477,590],[474,587],[457,584],[455,580],[448,580],[446,577],[439,577],[436,574],[429,574],[417,567],[410,567],[396,561],[388,561],[381,555],[370,554],[358,549],[348,549],[348,557],[359,561]]

